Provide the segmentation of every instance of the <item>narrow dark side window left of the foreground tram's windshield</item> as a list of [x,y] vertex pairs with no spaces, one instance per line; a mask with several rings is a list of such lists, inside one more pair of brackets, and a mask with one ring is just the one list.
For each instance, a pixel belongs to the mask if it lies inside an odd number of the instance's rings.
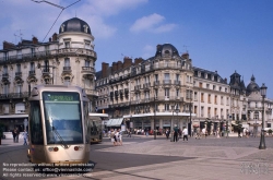
[[38,100],[31,103],[29,124],[32,144],[44,144],[41,115]]

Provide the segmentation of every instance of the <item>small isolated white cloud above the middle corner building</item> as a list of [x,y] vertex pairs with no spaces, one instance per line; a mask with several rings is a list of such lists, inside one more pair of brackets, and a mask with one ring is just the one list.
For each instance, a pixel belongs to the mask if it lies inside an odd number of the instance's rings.
[[163,24],[159,25],[165,20],[164,16],[154,13],[149,16],[143,16],[134,22],[130,27],[131,32],[151,32],[151,33],[164,33],[169,32],[176,27],[176,24]]

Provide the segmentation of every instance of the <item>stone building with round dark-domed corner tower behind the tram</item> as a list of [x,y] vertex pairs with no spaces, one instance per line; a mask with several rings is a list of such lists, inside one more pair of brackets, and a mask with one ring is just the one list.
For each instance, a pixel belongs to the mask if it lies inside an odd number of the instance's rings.
[[[86,22],[73,17],[60,25],[47,43],[36,37],[17,45],[3,43],[0,50],[0,120],[7,130],[21,131],[27,120],[31,89],[39,84],[78,85],[94,101],[95,61],[94,37]],[[90,111],[95,111],[90,105]]]

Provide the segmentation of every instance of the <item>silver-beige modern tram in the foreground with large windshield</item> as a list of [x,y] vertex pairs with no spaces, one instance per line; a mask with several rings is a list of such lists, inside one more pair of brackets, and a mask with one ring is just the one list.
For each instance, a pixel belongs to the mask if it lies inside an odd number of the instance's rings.
[[29,97],[27,156],[33,164],[87,164],[88,103],[78,86],[39,85]]

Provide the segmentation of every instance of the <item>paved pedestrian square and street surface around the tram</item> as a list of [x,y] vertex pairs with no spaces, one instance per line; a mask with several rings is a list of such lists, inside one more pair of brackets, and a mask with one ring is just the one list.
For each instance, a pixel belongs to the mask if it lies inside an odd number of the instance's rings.
[[[260,151],[259,137],[191,137],[189,142],[175,143],[138,135],[124,137],[123,145],[115,147],[104,139],[103,143],[91,145],[94,171],[69,179],[272,179],[273,137],[265,142],[268,148]],[[27,163],[26,146],[2,140],[0,159],[3,175],[2,163]]]

